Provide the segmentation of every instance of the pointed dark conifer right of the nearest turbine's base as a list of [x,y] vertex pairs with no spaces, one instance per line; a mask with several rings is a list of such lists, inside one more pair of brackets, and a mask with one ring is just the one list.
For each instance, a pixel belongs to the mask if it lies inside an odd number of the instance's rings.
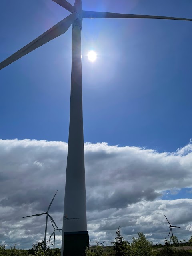
[[129,242],[124,240],[124,236],[121,235],[120,231],[118,227],[115,242],[111,242],[110,244],[113,244],[116,256],[128,256],[130,254],[130,245]]

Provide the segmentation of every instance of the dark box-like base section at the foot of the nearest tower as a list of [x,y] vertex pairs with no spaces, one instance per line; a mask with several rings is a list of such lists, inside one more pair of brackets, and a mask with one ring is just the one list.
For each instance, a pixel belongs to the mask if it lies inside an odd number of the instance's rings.
[[64,256],[82,256],[89,248],[88,231],[64,232]]

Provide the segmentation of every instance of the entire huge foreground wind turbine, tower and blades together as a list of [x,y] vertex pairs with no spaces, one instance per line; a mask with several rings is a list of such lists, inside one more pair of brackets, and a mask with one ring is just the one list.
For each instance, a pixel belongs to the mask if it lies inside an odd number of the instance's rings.
[[[74,6],[66,0],[53,0],[71,14],[44,34],[24,46],[18,52],[0,63],[0,69],[15,60],[46,44],[50,40],[65,33],[72,25],[72,70],[70,126],[68,139],[68,156],[66,170],[66,186],[64,198],[64,218],[62,232],[61,255],[82,255],[89,245],[86,221],[86,192],[84,170],[84,138],[82,115],[82,68],[81,68],[81,28],[83,18],[137,18],[190,20],[186,18],[119,14],[110,12],[92,12],[82,9],[82,1],[75,0]],[[118,2],[118,1],[117,1]],[[75,245],[75,246],[74,246]]]

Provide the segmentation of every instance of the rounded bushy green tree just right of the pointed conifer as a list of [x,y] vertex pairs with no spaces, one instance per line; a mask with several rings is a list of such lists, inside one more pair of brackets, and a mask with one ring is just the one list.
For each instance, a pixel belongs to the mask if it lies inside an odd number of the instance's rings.
[[143,233],[137,233],[138,238],[133,238],[131,243],[131,256],[151,256],[152,242],[147,240]]

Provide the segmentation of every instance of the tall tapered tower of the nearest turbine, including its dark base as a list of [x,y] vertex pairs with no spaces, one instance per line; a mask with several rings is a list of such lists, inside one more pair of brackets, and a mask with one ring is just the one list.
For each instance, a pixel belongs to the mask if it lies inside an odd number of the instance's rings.
[[82,108],[81,1],[75,2],[74,11],[78,13],[78,19],[72,24],[70,124],[62,234],[63,255],[71,253],[82,255],[85,248],[89,246]]

